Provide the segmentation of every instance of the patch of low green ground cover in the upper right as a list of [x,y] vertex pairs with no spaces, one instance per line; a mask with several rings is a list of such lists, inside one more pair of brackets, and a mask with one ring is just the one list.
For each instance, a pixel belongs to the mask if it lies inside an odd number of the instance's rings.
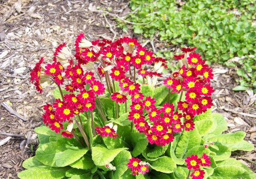
[[[198,46],[209,62],[238,66],[241,86],[234,90],[255,87],[255,18],[253,2],[189,0],[131,0],[128,20],[135,23],[134,33],[147,38],[157,35],[169,45]],[[127,27],[120,21],[125,30]],[[168,46],[166,46],[168,47]],[[159,54],[172,57],[169,50]],[[234,57],[239,57],[236,60]]]

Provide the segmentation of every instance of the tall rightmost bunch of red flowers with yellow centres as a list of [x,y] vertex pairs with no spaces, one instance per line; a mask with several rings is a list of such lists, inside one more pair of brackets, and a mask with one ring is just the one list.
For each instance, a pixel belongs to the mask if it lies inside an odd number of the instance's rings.
[[[201,55],[193,53],[194,48],[182,48],[185,54],[174,56],[180,60],[182,67],[171,74],[164,84],[172,92],[180,93],[181,100],[178,102],[178,109],[184,117],[184,127],[187,131],[194,129],[193,118],[206,112],[212,106],[211,94],[214,89],[210,86],[213,79],[212,69],[201,59]],[[185,92],[185,100],[182,100]]]

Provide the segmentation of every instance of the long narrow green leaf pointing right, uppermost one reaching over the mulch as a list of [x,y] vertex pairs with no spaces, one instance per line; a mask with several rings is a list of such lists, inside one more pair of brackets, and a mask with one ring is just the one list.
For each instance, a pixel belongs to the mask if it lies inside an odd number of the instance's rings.
[[220,143],[231,144],[231,143],[240,142],[241,140],[243,140],[245,135],[246,135],[245,132],[238,131],[235,133],[221,134],[213,137],[208,137],[206,139],[210,142],[220,142]]

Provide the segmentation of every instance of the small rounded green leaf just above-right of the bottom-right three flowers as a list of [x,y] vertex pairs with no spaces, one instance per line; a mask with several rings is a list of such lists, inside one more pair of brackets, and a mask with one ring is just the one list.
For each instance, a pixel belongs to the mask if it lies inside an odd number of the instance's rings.
[[215,161],[222,161],[222,160],[226,160],[231,156],[231,150],[230,148],[221,145],[221,144],[215,144],[216,146],[218,146],[219,150],[216,150],[215,148],[211,148],[210,150],[215,152],[216,155],[211,155],[211,157],[215,160]]

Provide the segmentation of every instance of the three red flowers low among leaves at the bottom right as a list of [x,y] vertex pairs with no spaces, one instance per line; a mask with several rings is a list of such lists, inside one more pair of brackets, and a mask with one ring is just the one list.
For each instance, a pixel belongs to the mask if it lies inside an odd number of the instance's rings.
[[197,155],[192,155],[187,157],[185,162],[187,163],[187,169],[193,169],[194,172],[191,173],[192,179],[203,179],[204,178],[204,170],[200,169],[200,165],[202,167],[209,167],[211,162],[209,156],[203,154],[201,158],[198,158]]

